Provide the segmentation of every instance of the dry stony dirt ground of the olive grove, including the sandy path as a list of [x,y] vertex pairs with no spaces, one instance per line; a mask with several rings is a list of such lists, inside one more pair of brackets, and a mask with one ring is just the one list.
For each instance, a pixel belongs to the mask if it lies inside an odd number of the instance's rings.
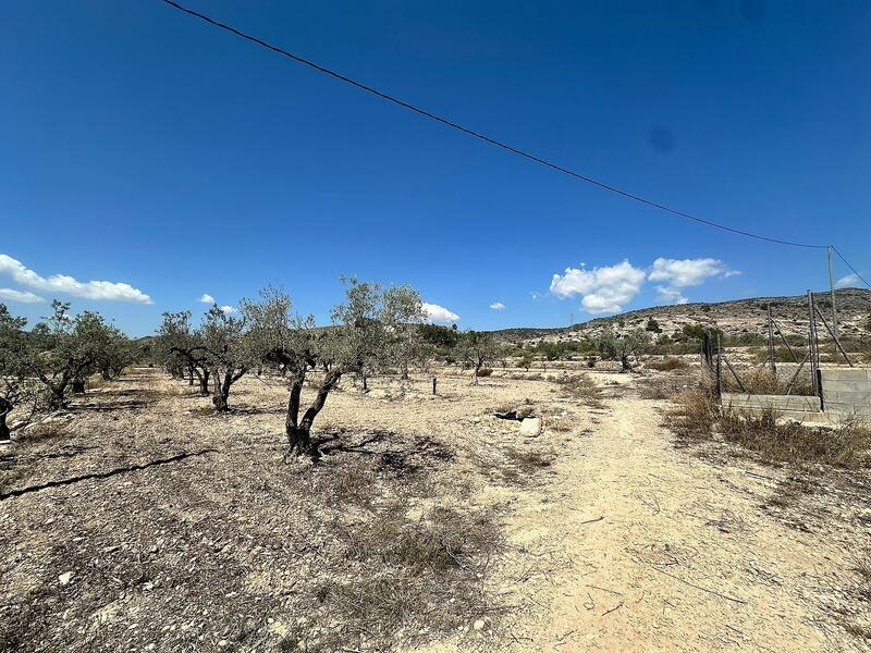
[[223,416],[154,369],[91,389],[0,449],[0,649],[868,650],[864,472],[685,446],[590,377],[347,381],[316,466],[279,380]]

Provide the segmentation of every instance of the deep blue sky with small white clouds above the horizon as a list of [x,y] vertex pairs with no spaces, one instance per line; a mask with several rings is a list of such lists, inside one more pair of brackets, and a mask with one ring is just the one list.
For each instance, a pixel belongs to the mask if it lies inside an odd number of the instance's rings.
[[[868,2],[188,4],[604,182],[833,242],[871,272]],[[327,319],[355,274],[490,329],[826,283],[822,250],[610,195],[157,0],[9,3],[0,78],[0,300],[32,318],[48,306],[26,293],[145,334],[204,293],[232,306],[273,283]]]

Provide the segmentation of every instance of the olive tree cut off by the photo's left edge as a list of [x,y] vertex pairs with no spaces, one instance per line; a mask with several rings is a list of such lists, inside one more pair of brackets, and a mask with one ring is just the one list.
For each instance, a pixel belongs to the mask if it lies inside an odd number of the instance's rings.
[[30,355],[25,318],[16,318],[0,304],[0,442],[9,442],[11,427],[7,418],[12,410],[29,409],[15,428],[26,426],[39,405],[39,389],[30,375],[27,356]]

